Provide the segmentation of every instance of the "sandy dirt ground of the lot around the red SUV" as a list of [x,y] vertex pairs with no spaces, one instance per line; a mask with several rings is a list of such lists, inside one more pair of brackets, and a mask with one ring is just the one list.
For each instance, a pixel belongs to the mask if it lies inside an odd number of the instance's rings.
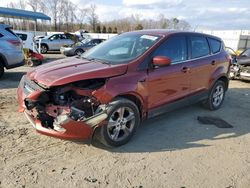
[[[0,187],[250,187],[249,82],[232,81],[216,112],[186,107],[144,122],[127,145],[103,149],[40,135],[17,113],[16,87],[29,69],[0,81]],[[200,115],[233,128],[200,124]]]

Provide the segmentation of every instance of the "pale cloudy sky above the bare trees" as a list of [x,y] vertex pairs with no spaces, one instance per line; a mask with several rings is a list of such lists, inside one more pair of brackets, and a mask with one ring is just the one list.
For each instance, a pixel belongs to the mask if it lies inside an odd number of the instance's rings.
[[[0,0],[0,6],[19,0]],[[71,0],[80,7],[96,4],[101,21],[124,18],[132,14],[140,18],[185,19],[194,29],[249,29],[250,0]]]

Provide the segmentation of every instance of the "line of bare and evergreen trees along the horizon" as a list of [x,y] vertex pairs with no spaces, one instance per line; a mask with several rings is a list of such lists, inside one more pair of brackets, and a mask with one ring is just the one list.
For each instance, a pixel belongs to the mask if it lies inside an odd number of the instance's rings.
[[32,9],[34,12],[43,12],[51,17],[50,23],[4,18],[4,22],[20,30],[32,30],[35,26],[38,31],[86,30],[95,33],[121,33],[142,29],[191,29],[187,21],[166,18],[163,14],[159,14],[154,19],[141,19],[140,14],[132,14],[129,17],[101,22],[96,11],[98,7],[95,4],[81,8],[70,0],[19,0],[17,3],[8,3],[8,7]]

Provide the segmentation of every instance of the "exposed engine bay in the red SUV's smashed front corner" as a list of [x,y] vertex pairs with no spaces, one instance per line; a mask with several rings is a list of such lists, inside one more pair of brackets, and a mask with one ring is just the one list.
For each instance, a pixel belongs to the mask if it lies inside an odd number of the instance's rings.
[[[24,90],[28,90],[26,93],[29,90],[34,92],[32,85],[36,83],[31,84],[31,82],[33,81],[24,81]],[[106,79],[98,78],[43,88],[37,97],[26,98],[25,106],[45,128],[63,131],[60,125],[67,121],[86,121],[88,118],[97,116],[96,122],[90,125],[95,126],[106,118],[106,115],[98,118],[103,115],[106,105],[93,97],[92,92],[101,88],[105,83]]]

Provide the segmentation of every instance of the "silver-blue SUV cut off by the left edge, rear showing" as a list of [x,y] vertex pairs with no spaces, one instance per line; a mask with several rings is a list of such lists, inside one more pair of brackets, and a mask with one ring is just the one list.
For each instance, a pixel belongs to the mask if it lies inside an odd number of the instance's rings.
[[4,69],[24,65],[22,42],[10,29],[10,26],[0,24],[0,78]]

